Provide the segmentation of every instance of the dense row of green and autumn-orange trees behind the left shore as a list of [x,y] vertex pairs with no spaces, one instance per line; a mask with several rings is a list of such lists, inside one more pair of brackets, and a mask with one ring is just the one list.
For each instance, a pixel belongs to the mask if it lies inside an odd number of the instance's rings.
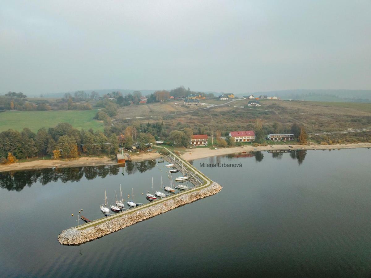
[[0,133],[0,162],[15,162],[35,156],[77,158],[87,155],[114,154],[118,150],[117,135],[106,136],[101,131],[78,130],[69,123],[54,128],[41,128],[37,133],[28,128],[21,132],[9,129]]

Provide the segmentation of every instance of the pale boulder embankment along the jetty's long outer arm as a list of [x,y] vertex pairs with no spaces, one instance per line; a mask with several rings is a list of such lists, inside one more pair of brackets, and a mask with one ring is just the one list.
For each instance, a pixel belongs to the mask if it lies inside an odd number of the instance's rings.
[[67,229],[62,231],[58,236],[58,241],[60,244],[65,245],[79,245],[84,242],[89,242],[101,238],[104,235],[111,234],[112,232],[119,231],[137,222],[170,211],[171,209],[214,195],[221,189],[222,187],[218,183],[212,182],[207,186],[201,186],[200,188],[183,192],[179,195],[171,196],[170,198],[164,198],[163,201],[153,203],[153,205],[143,208],[139,207],[135,211],[127,211],[125,214],[117,215],[103,222],[98,222],[96,225],[90,225],[86,228],[82,226],[79,228]]

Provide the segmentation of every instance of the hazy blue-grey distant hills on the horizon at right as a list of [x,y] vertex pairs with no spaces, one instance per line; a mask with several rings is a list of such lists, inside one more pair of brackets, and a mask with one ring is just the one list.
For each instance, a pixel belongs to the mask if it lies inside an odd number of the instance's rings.
[[278,96],[281,99],[312,100],[328,102],[371,102],[371,90],[279,90],[255,92],[254,96]]

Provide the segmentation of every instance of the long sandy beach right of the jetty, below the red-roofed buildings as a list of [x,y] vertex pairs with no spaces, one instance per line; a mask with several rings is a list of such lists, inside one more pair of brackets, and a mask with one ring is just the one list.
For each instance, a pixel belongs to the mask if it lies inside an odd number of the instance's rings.
[[[291,147],[290,147],[291,146]],[[371,143],[351,143],[351,144],[336,144],[336,145],[268,145],[268,146],[242,146],[234,148],[220,148],[220,149],[209,149],[209,148],[194,148],[187,150],[183,153],[182,158],[185,160],[194,160],[200,158],[207,158],[215,155],[228,155],[230,153],[239,152],[253,152],[256,150],[323,150],[323,149],[354,149],[354,148],[371,148]]]

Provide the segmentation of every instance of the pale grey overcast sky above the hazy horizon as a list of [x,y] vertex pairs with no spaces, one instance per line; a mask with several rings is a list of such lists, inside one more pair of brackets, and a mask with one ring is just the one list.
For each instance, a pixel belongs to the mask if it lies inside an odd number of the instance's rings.
[[0,2],[0,94],[371,89],[371,1]]

